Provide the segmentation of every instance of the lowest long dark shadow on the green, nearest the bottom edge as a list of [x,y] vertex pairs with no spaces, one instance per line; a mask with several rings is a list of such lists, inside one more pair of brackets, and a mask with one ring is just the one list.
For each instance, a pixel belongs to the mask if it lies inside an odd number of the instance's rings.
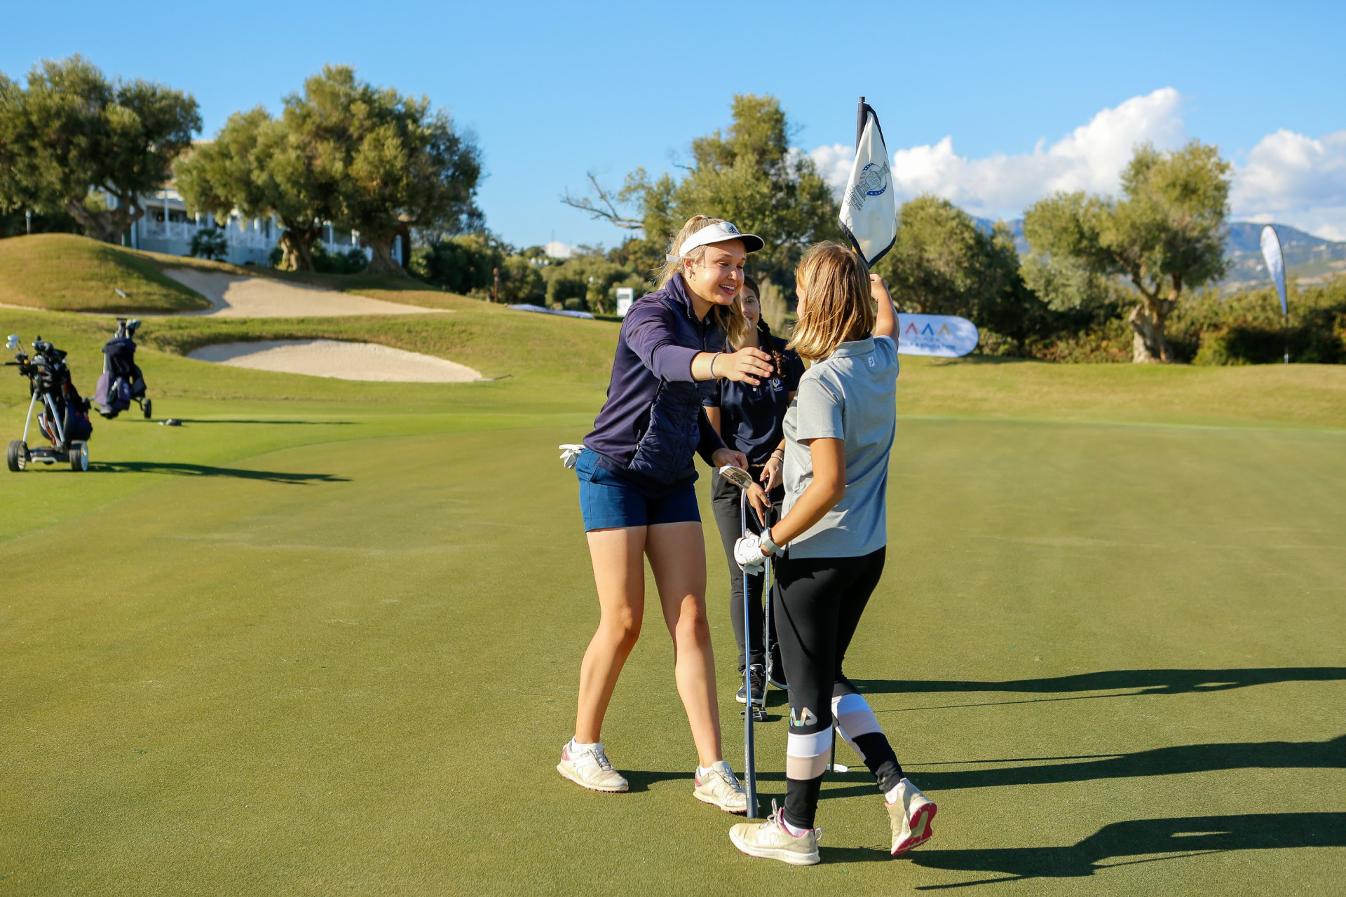
[[[907,854],[926,869],[999,873],[999,878],[918,890],[966,888],[1023,878],[1077,878],[1101,869],[1141,862],[1180,859],[1230,850],[1346,846],[1346,812],[1272,812],[1236,816],[1133,819],[1104,826],[1069,847],[992,847],[988,850],[929,850]],[[1149,854],[1170,854],[1149,857]],[[1143,859],[1127,859],[1143,857]],[[1105,862],[1117,859],[1120,862]]]

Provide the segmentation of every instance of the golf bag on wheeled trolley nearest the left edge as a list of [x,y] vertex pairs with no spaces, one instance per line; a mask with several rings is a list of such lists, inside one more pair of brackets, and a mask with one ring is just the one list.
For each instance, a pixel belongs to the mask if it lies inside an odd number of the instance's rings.
[[[17,350],[17,335],[11,336],[5,348]],[[22,471],[31,463],[55,464],[69,461],[73,471],[89,469],[89,437],[93,424],[89,422],[89,399],[79,398],[70,382],[70,368],[66,367],[66,354],[47,343],[40,336],[32,343],[32,358],[23,351],[15,354],[13,362],[5,367],[17,367],[19,374],[28,378],[28,417],[23,422],[23,438],[11,440],[7,460],[11,471]],[[32,412],[38,409],[38,429],[51,445],[28,448],[28,426]]]

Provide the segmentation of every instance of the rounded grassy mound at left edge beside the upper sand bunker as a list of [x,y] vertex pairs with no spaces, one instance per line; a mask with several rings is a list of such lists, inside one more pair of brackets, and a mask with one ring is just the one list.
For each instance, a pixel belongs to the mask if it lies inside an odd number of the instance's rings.
[[[118,296],[116,290],[125,293]],[[151,253],[75,234],[0,239],[0,303],[73,312],[191,312],[210,308],[160,273]]]

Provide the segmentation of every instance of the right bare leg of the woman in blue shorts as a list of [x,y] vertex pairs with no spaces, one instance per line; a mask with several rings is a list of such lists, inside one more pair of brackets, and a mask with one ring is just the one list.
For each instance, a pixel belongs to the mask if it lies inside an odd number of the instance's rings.
[[723,760],[715,650],[705,620],[705,537],[700,523],[647,527],[645,553],[673,636],[673,674],[703,767]]

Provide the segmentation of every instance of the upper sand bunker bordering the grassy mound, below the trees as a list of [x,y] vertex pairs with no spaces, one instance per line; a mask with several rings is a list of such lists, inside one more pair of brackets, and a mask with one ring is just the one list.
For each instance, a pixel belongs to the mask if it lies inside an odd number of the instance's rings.
[[443,308],[421,308],[351,296],[332,289],[288,284],[272,277],[246,277],[194,268],[172,268],[166,276],[209,299],[215,308],[191,315],[219,317],[341,317],[346,315],[436,315]]

